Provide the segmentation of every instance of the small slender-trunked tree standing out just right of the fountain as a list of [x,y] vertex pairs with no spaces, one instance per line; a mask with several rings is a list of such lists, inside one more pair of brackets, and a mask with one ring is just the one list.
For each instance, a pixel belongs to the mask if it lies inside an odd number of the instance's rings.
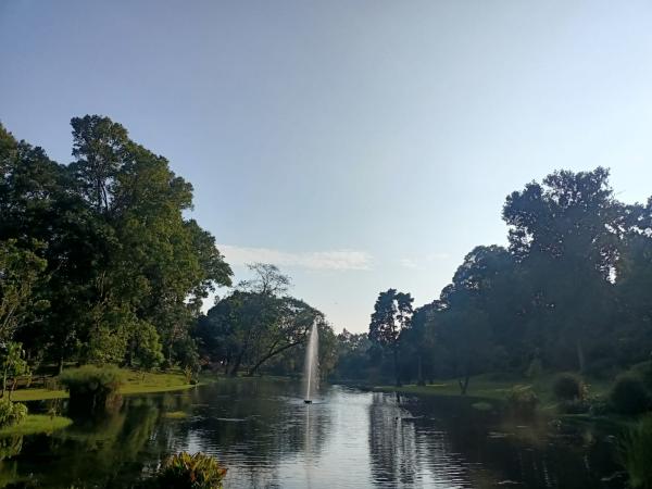
[[399,339],[412,317],[412,302],[410,293],[397,292],[396,289],[380,292],[369,323],[369,339],[392,352],[397,386],[401,385]]

